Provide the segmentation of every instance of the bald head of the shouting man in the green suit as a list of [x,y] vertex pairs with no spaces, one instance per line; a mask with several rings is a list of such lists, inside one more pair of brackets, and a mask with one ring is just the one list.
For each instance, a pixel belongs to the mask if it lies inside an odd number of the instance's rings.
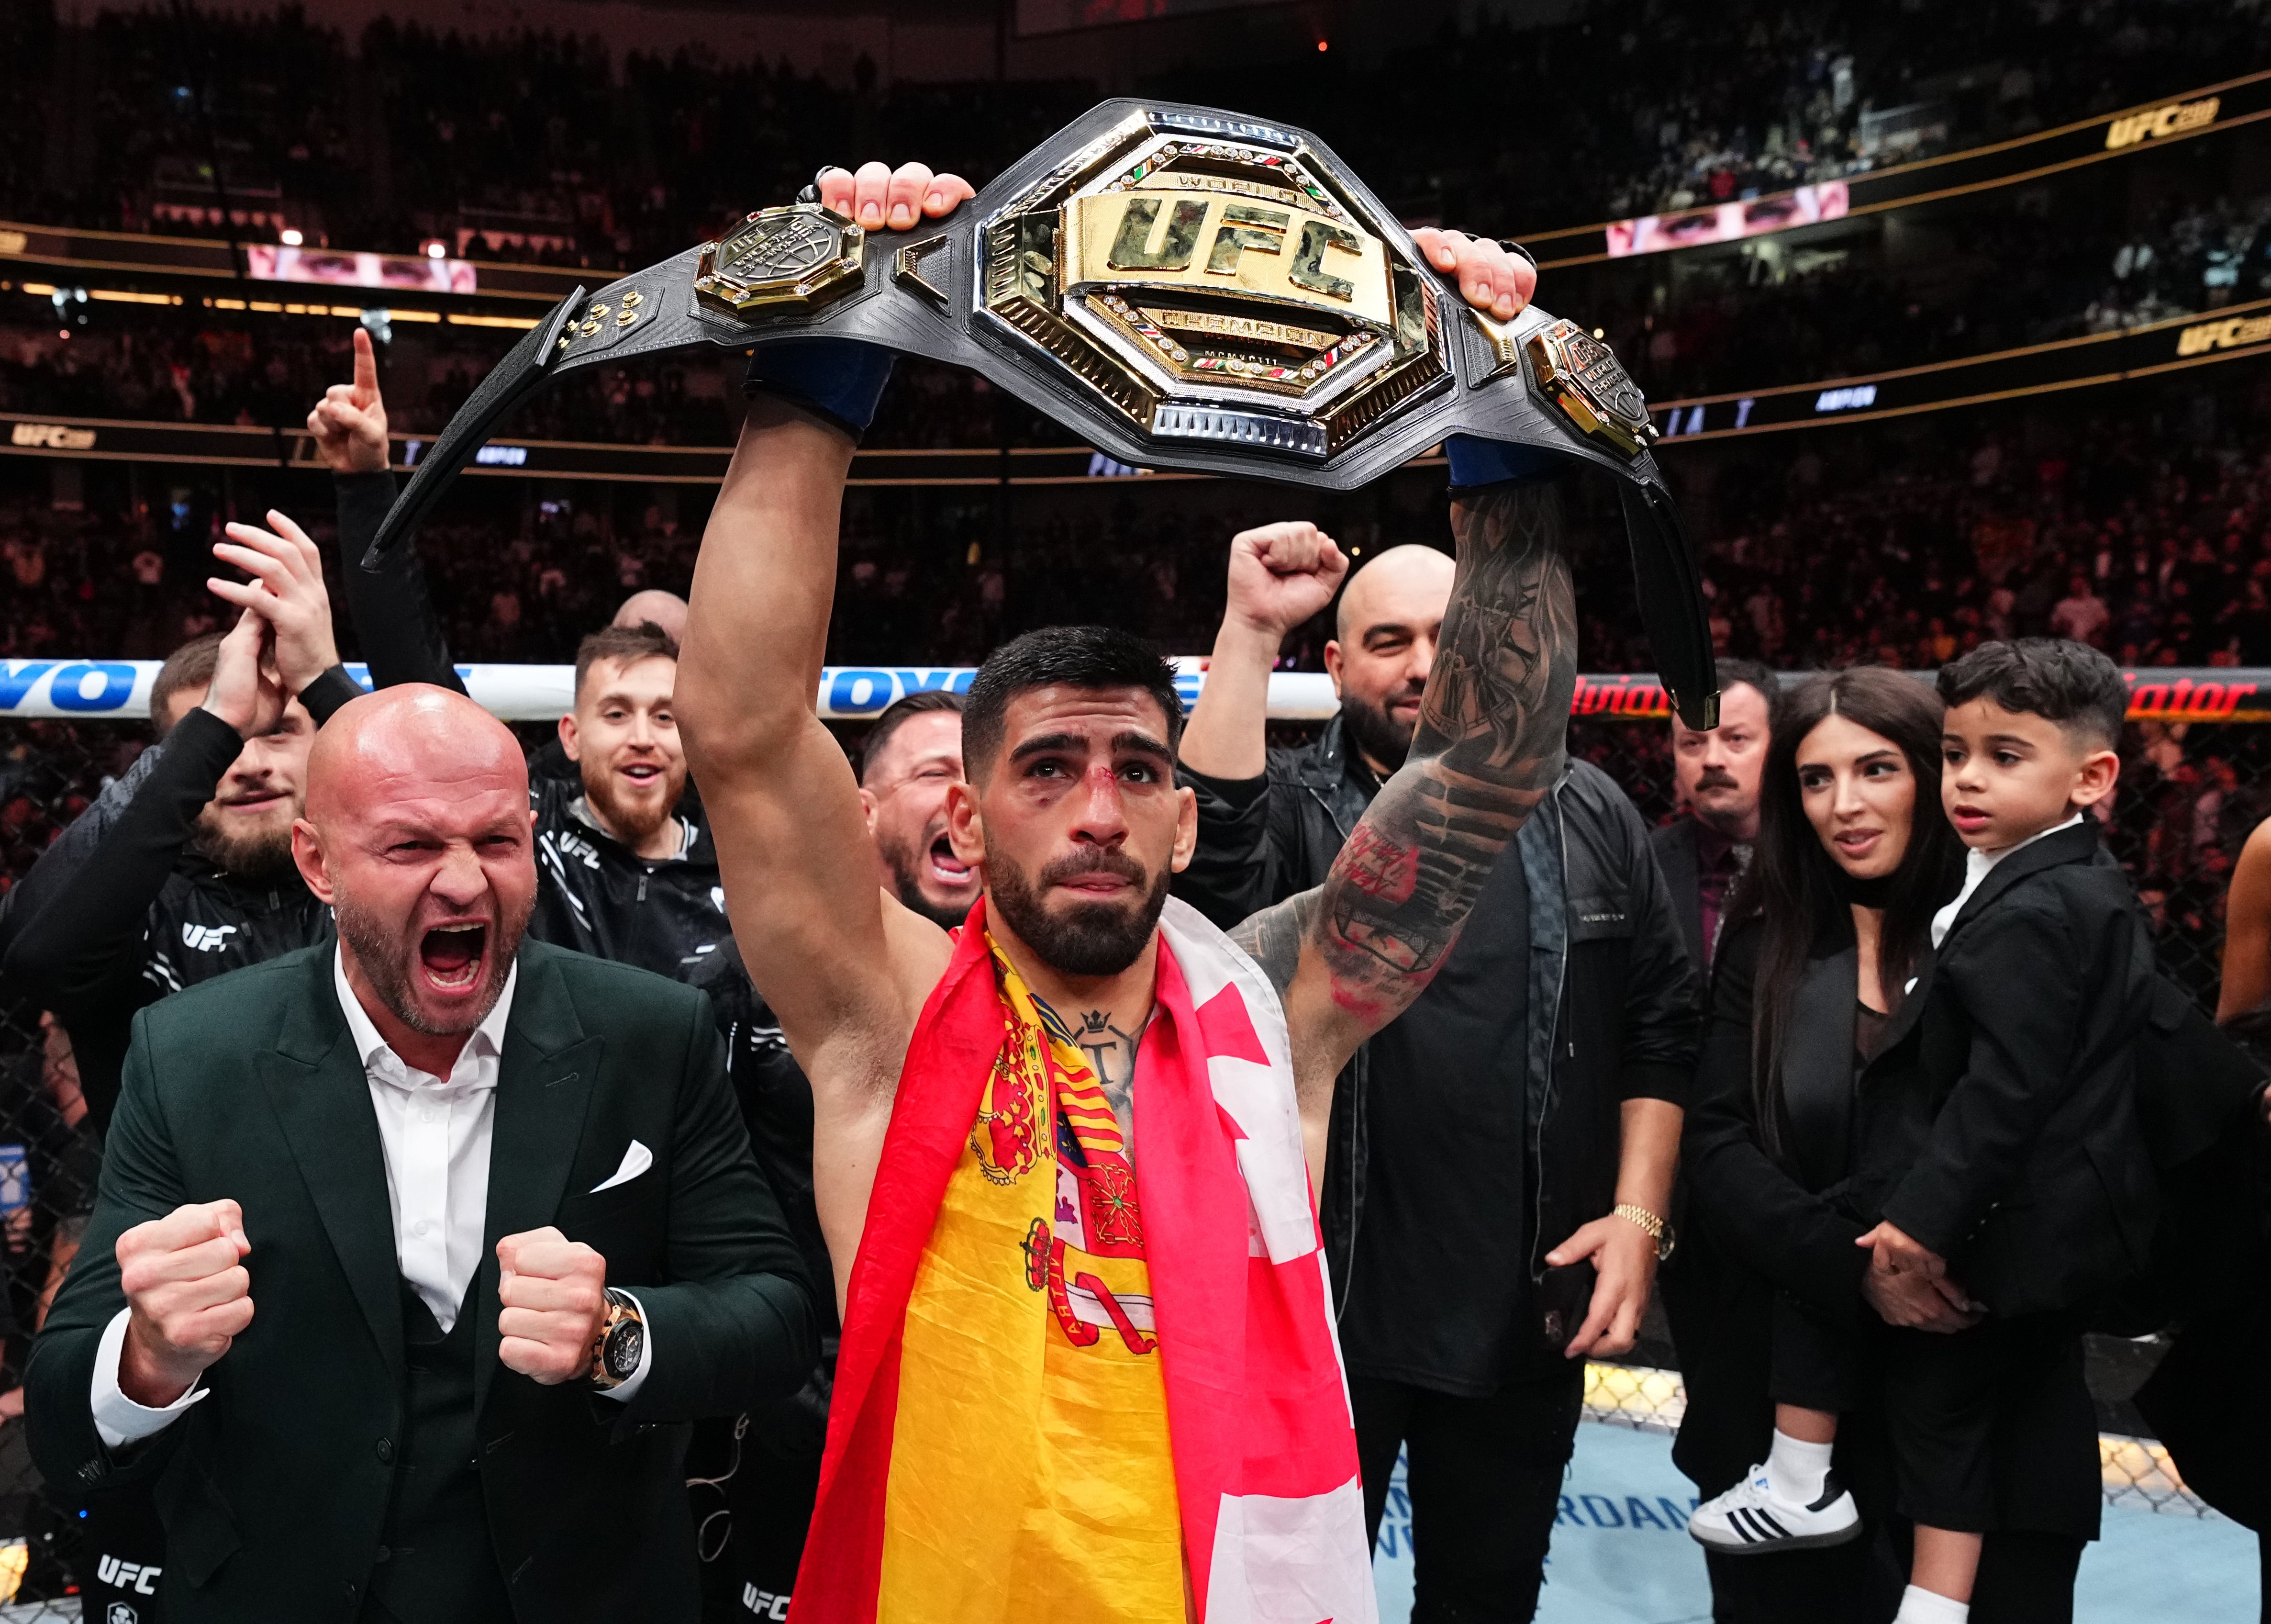
[[536,906],[529,820],[520,740],[461,693],[382,688],[316,736],[293,861],[338,915],[357,999],[436,1077],[520,952]]

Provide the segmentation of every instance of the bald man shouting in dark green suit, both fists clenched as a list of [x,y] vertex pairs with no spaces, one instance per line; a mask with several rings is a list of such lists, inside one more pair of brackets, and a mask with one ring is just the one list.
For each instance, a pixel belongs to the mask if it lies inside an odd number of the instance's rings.
[[293,859],[336,947],[134,1022],[41,1470],[157,1481],[175,1624],[695,1619],[684,1422],[818,1354],[709,999],[525,940],[527,770],[463,695],[343,706]]

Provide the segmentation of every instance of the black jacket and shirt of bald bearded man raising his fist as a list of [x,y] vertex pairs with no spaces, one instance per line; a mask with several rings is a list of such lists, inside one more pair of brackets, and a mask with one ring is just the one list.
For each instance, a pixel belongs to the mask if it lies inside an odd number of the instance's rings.
[[[1174,890],[1224,927],[1322,884],[1378,788],[1338,720],[1306,750],[1274,750],[1260,779],[1181,777],[1199,797],[1199,854]],[[1501,977],[1519,981],[1494,995]],[[1399,1043],[1410,1022],[1442,1031]],[[1619,1108],[1685,1102],[1696,1027],[1694,970],[1649,831],[1606,772],[1572,763],[1488,881],[1451,965],[1335,1088],[1322,1222],[1351,1372],[1478,1395],[1558,1363],[1528,1324],[1542,1254],[1615,1206]],[[1447,1045],[1465,1056],[1456,1079],[1381,1070],[1383,1056]],[[1449,1113],[1438,1133],[1406,1131],[1415,1111],[1399,1106],[1410,1102]],[[1390,1111],[1397,1122],[1385,1124]],[[1376,1124],[1440,1149],[1424,1152],[1426,1165],[1378,1165]],[[1438,1236],[1428,1252],[1415,1236],[1397,1313],[1365,1311],[1351,1274],[1367,1186],[1453,1179],[1465,1172],[1453,1156],[1499,1163],[1494,1183],[1522,1211],[1478,1215],[1481,1231]],[[1501,1233],[1510,1267],[1478,1256],[1476,1233]]]

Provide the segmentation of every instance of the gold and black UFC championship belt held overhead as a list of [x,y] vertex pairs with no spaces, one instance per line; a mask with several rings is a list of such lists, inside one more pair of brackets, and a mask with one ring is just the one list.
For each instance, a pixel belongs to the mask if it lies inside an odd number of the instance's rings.
[[1592,463],[1617,479],[1658,675],[1690,727],[1717,722],[1694,556],[1608,345],[1535,304],[1469,307],[1317,136],[1176,102],[1101,102],[911,232],[795,202],[577,288],[418,459],[366,568],[552,379],[806,336],[967,366],[1145,468],[1349,491],[1449,434]]

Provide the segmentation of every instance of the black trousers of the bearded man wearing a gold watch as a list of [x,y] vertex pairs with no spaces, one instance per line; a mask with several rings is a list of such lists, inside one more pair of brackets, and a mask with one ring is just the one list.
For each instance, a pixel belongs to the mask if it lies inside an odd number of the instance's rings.
[[1349,1399],[1374,1542],[1397,1449],[1410,1451],[1413,1624],[1526,1624],[1576,1447],[1585,1367],[1569,1361],[1567,1372],[1488,1399],[1351,1376]]

